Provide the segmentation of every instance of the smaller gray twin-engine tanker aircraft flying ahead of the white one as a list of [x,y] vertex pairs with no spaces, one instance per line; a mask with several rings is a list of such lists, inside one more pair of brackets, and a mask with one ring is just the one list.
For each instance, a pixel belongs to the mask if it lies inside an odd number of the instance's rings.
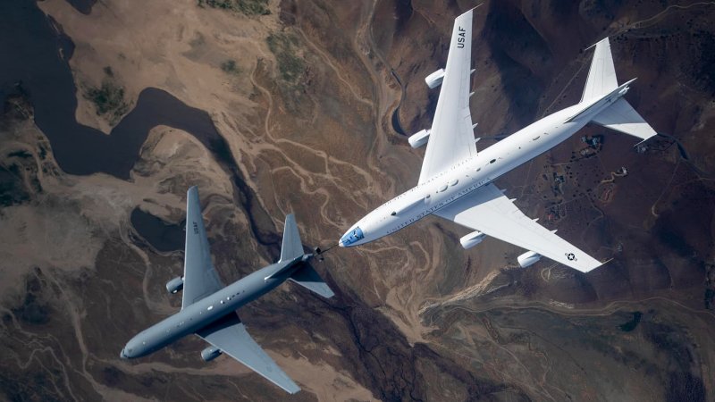
[[120,356],[125,359],[147,356],[186,335],[196,334],[211,344],[201,352],[206,362],[225,353],[287,392],[298,392],[299,386],[248,335],[235,311],[284,281],[293,281],[322,297],[333,296],[332,290],[307,263],[313,255],[303,252],[293,214],[285,218],[279,261],[224,287],[211,263],[198,188],[189,188],[186,209],[184,275],[166,283],[170,293],[183,289],[181,311],[139,332]]

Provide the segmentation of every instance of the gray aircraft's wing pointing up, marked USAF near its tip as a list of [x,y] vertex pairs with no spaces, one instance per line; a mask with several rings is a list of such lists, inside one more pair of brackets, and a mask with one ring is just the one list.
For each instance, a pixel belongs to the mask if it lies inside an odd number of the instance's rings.
[[184,252],[184,289],[181,308],[191,306],[198,300],[223,289],[211,263],[211,251],[206,239],[198,188],[189,188],[186,193],[186,248]]

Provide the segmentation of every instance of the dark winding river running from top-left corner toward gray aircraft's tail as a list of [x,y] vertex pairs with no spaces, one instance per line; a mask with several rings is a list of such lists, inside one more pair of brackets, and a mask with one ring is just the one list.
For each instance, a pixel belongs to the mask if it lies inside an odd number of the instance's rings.
[[[80,8],[91,7],[93,3],[70,1]],[[10,95],[29,99],[35,123],[49,139],[64,172],[78,175],[105,172],[128,179],[149,130],[166,125],[187,131],[231,174],[235,185],[233,197],[246,210],[251,230],[271,255],[277,255],[280,236],[275,235],[272,220],[243,180],[228,144],[208,113],[183,104],[163,90],[147,88],[139,95],[134,109],[107,136],[75,119],[76,88],[68,64],[74,45],[52,18],[42,13],[34,1],[2,0],[0,32],[5,35],[12,32],[12,36],[0,40],[0,105]]]

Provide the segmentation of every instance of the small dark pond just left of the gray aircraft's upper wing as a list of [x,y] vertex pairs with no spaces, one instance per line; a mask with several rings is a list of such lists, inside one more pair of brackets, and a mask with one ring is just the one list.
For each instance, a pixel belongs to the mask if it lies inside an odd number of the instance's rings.
[[175,251],[184,247],[184,225],[164,222],[162,219],[134,208],[131,211],[131,225],[139,231],[152,247],[159,251]]

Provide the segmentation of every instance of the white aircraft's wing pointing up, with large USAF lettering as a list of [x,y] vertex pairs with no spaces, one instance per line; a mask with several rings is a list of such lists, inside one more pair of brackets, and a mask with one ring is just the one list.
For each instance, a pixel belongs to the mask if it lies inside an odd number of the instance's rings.
[[472,10],[469,10],[454,21],[450,54],[419,175],[420,184],[454,163],[476,155],[472,116],[469,113],[471,54]]

